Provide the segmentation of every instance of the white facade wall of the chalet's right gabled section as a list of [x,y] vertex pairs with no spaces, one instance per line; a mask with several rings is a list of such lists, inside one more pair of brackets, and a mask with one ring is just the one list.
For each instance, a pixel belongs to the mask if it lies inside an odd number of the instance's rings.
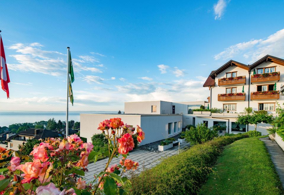
[[[280,88],[284,85],[284,66],[275,64],[273,62],[263,62],[259,66],[256,66],[254,69],[257,71],[258,68],[276,66],[276,72],[280,71],[280,81],[271,81],[271,82],[257,82],[251,84],[251,92],[257,91],[257,85],[267,85],[267,84],[274,84],[276,82],[276,90],[280,90]],[[253,74],[254,69],[251,70],[251,74]],[[282,73],[282,74],[281,74]],[[278,100],[251,100],[250,107],[252,107],[255,111],[258,111],[258,103],[275,103],[279,102],[282,106],[284,103],[284,96],[280,95]],[[268,111],[268,113],[275,113],[275,111]]]

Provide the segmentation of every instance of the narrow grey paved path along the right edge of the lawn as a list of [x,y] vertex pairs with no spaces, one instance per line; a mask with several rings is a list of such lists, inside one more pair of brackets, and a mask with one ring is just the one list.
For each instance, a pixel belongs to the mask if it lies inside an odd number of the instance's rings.
[[275,141],[271,141],[268,137],[260,138],[260,140],[265,143],[284,188],[284,152]]

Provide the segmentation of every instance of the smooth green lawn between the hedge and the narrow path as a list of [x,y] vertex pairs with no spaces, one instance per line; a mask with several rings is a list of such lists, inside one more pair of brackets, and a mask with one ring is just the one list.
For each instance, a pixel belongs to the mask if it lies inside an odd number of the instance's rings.
[[240,139],[225,147],[199,194],[283,194],[264,142]]

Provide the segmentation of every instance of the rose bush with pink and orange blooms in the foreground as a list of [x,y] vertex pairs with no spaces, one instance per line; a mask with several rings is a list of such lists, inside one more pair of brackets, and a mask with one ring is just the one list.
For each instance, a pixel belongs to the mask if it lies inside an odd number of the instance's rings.
[[[7,167],[5,175],[0,175],[0,194],[127,194],[124,186],[131,185],[123,174],[136,170],[138,162],[126,159],[134,147],[134,131],[124,124],[121,118],[112,118],[99,124],[98,129],[108,140],[108,150],[93,151],[91,142],[83,143],[74,134],[67,138],[46,138],[35,144],[30,155],[21,151],[7,150],[0,147],[0,160],[12,156],[10,161],[0,163]],[[137,126],[135,134],[138,142],[145,138],[145,133]],[[114,157],[122,155],[120,165],[111,165]],[[86,184],[83,180],[89,161],[96,163],[98,156],[109,157],[104,171],[94,176],[94,181]],[[27,185],[28,183],[28,185]]]

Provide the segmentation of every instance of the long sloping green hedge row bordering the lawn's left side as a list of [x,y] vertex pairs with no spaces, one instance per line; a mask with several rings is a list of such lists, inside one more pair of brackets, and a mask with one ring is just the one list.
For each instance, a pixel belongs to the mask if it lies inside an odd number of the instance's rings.
[[163,160],[156,167],[131,178],[132,194],[197,194],[212,171],[223,146],[246,138],[246,134],[222,136],[197,144],[180,155]]

